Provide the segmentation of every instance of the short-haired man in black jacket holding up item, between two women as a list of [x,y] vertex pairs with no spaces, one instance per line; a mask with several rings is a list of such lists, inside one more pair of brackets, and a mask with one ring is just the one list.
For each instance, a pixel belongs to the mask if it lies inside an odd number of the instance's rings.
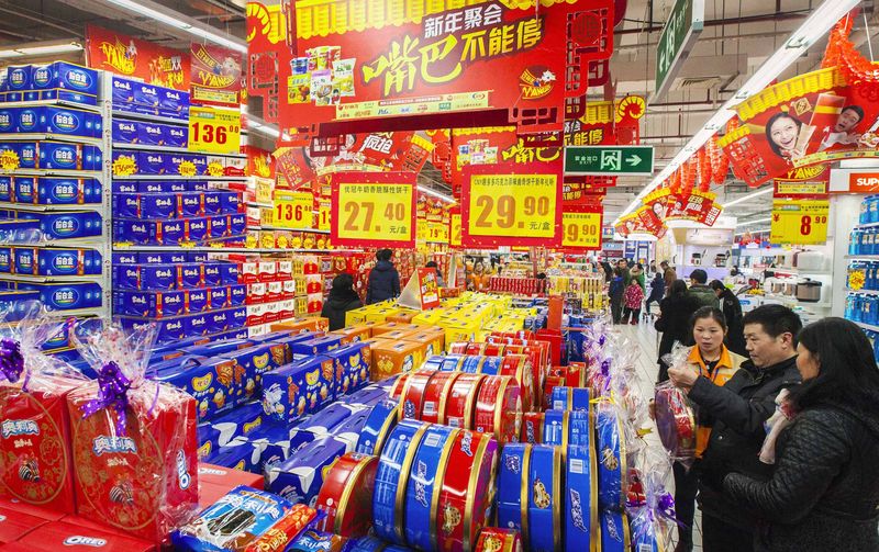
[[764,305],[749,312],[743,324],[750,360],[725,385],[715,385],[689,367],[668,369],[675,385],[689,388],[690,401],[714,419],[699,484],[705,552],[754,550],[756,517],[723,495],[721,482],[731,471],[764,480],[770,475],[772,466],[758,458],[766,439],[764,424],[775,413],[778,393],[800,383],[800,317],[788,307]]

